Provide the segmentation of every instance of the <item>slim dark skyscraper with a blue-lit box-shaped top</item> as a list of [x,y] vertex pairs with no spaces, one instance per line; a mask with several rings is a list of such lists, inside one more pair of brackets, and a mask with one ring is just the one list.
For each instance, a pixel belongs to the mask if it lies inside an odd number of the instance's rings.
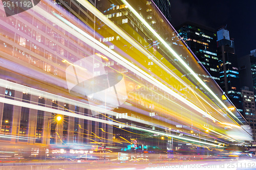
[[230,39],[229,31],[226,28],[219,29],[217,36],[217,57],[219,58],[220,68],[219,85],[234,106],[242,112],[238,58],[234,53],[234,42]]

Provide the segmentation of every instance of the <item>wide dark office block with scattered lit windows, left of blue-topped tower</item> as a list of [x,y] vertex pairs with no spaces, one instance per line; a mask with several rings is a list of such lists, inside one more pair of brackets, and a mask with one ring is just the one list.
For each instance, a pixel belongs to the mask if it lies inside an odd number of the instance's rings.
[[[205,67],[211,78],[219,83],[217,36],[215,29],[187,21],[177,27],[176,30],[190,50],[196,55],[198,62]],[[193,65],[191,66],[193,67]],[[207,81],[205,79],[205,82]]]

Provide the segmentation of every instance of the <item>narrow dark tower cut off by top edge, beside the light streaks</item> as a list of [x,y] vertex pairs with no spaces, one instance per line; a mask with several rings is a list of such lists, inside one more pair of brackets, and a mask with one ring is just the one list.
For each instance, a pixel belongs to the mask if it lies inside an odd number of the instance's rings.
[[170,0],[153,0],[159,10],[163,13],[166,19],[170,22],[172,16],[170,15]]

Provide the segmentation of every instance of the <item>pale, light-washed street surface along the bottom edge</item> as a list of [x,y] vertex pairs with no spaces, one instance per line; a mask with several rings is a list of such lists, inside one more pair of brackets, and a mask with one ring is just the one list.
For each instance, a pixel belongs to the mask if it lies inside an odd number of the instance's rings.
[[[30,164],[30,163],[27,163]],[[31,163],[32,164],[32,163]],[[51,163],[46,165],[16,165],[16,166],[0,166],[0,170],[7,169],[230,169],[230,170],[243,170],[243,169],[256,169],[256,159],[218,159],[218,160],[198,160],[198,161],[155,161],[155,162],[129,162],[129,163],[103,163],[103,162],[55,162],[54,165]]]

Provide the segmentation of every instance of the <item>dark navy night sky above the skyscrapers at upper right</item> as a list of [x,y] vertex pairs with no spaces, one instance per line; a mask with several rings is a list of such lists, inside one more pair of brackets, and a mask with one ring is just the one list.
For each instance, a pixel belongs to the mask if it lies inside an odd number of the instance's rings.
[[227,25],[238,57],[256,48],[256,0],[172,0],[172,25],[186,20],[214,29]]

